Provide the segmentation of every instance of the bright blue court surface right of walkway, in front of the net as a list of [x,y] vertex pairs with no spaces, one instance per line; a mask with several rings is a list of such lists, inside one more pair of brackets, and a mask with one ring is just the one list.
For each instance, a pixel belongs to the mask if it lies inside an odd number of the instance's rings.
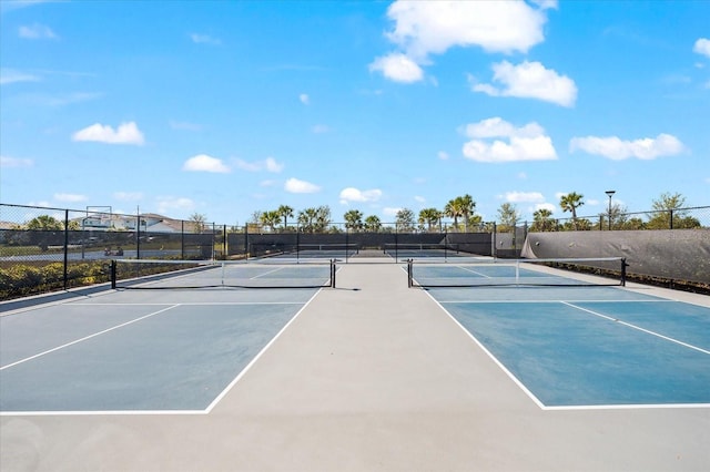
[[710,308],[611,287],[429,294],[542,408],[710,404]]

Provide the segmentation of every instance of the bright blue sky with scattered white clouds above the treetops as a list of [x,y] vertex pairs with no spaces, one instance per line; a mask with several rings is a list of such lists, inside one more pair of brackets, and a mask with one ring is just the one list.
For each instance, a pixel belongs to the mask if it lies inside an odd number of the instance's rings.
[[0,202],[710,204],[708,1],[0,2]]

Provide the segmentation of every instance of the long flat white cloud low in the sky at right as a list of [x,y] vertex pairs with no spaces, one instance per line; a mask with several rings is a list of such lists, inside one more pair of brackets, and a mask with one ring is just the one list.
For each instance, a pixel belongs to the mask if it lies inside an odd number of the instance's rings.
[[629,157],[653,160],[671,156],[684,151],[683,144],[670,134],[659,134],[655,138],[645,137],[635,141],[622,141],[617,136],[572,137],[569,143],[570,152],[582,151],[587,154],[600,155],[615,161]]

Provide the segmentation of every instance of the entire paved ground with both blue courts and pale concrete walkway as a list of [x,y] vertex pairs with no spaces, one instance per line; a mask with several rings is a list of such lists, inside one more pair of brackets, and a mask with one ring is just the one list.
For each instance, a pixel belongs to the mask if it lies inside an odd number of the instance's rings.
[[2,470],[710,463],[707,297],[520,285],[519,268],[509,286],[409,287],[406,264],[382,263],[337,263],[335,287],[331,264],[251,266],[273,286],[320,270],[273,289],[224,281],[243,266],[181,267],[178,286],[6,311]]

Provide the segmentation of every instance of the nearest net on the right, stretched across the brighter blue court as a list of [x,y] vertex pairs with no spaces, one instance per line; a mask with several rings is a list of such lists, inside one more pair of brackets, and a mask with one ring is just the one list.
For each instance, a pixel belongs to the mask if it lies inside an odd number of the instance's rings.
[[623,286],[621,257],[488,259],[464,263],[407,260],[409,287]]

